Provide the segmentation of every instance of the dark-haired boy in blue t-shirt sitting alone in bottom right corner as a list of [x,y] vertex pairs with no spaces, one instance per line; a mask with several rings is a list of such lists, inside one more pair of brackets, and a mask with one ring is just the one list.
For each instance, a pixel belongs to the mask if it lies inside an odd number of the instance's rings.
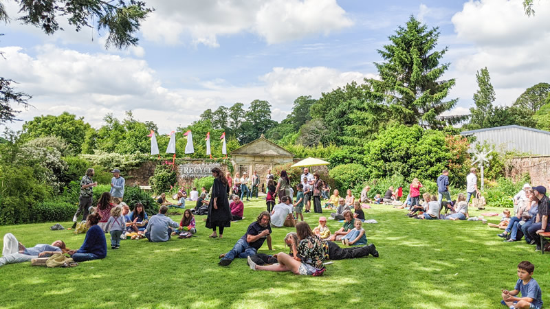
[[[535,265],[529,261],[518,264],[518,281],[514,290],[503,290],[503,300],[500,304],[508,308],[542,308],[542,290],[535,279],[533,272]],[[516,297],[521,293],[521,297]]]

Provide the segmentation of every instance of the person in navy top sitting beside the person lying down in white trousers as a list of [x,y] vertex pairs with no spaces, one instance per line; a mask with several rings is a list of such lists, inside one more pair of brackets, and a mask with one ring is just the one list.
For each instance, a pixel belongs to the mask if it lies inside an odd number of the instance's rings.
[[[109,192],[106,192],[109,193]],[[100,214],[91,214],[86,220],[86,225],[89,227],[86,232],[86,237],[80,249],[69,250],[69,255],[74,262],[85,262],[91,260],[104,259],[107,257],[107,240],[105,233],[98,226]]]

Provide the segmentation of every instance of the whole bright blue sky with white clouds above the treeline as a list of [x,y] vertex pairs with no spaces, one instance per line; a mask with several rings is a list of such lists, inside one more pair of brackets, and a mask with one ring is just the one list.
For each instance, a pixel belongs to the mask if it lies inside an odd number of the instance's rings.
[[[104,49],[96,31],[46,36],[12,20],[0,26],[0,72],[34,96],[21,119],[69,111],[99,127],[106,113],[133,110],[162,133],[185,126],[206,108],[272,104],[281,120],[299,95],[318,98],[347,82],[376,77],[376,49],[417,16],[439,27],[445,78],[456,78],[452,113],[467,113],[475,73],[487,66],[496,104],[511,104],[527,87],[549,82],[550,4],[536,16],[520,0],[482,1],[146,1],[156,11],[129,50]],[[12,19],[17,3],[5,4]],[[93,41],[92,41],[93,38]],[[8,124],[21,128],[22,122]]]

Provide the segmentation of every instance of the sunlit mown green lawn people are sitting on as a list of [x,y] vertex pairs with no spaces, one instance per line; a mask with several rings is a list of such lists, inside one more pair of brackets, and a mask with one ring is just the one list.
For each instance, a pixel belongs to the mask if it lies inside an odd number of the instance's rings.
[[[500,289],[514,288],[516,266],[522,260],[535,264],[533,277],[542,288],[544,302],[550,304],[550,254],[535,253],[525,242],[504,243],[496,236],[498,229],[481,222],[414,220],[404,216],[404,209],[384,205],[365,209],[367,219],[379,222],[364,229],[380,258],[335,261],[322,277],[251,271],[243,259],[218,266],[218,255],[231,249],[264,209],[263,201],[246,203],[245,220],[225,229],[223,239],[208,238],[211,231],[203,227],[206,216],[197,216],[194,238],[154,244],[123,240],[118,250],[109,245],[106,259],[76,268],[3,266],[0,306],[498,308]],[[305,215],[315,227],[318,214]],[[489,218],[489,222],[498,220]],[[70,226],[70,222],[61,223]],[[82,244],[83,234],[50,231],[50,225],[3,226],[0,235],[14,233],[28,246],[60,238],[70,248]],[[342,223],[329,220],[328,225],[334,231]],[[273,253],[287,251],[283,238],[291,230],[274,229]],[[261,252],[269,252],[266,244]]]

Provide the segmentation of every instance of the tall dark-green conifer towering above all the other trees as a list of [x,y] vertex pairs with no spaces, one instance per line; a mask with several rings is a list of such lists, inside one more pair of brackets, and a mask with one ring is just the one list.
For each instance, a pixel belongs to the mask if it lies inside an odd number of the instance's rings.
[[[441,79],[450,64],[440,63],[447,47],[435,50],[439,34],[437,27],[428,29],[410,16],[405,27],[399,26],[389,36],[390,44],[378,50],[386,61],[375,63],[380,80],[369,78],[366,82],[387,106],[392,119],[401,124],[441,128],[444,123],[437,117],[456,105],[458,99],[445,101],[455,80]],[[448,122],[461,120],[463,117],[455,117]]]

